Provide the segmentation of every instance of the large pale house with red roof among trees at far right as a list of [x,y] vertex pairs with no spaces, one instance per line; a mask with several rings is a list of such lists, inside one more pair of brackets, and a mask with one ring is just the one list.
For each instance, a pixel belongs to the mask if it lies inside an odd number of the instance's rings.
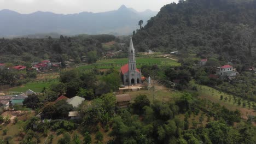
[[239,73],[235,71],[231,65],[223,65],[222,67],[217,68],[216,74],[221,78],[228,77],[229,79],[232,79]]

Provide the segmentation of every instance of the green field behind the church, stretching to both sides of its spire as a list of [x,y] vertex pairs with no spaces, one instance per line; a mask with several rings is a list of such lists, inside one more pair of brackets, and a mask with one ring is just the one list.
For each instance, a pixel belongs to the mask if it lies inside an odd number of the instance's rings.
[[[95,68],[95,66],[98,69],[109,69],[111,67],[114,67],[115,69],[120,69],[127,62],[128,62],[128,58],[103,59],[103,60],[97,61],[94,64],[78,67],[78,69],[79,70],[92,69],[92,68]],[[173,65],[180,65],[180,63],[164,57],[137,57],[136,65],[137,65],[137,68],[141,68],[142,65],[173,66]]]

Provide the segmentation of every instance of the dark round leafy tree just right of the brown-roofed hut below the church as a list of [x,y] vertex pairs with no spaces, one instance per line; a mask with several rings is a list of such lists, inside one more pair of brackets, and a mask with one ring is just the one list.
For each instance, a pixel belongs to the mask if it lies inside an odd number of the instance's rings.
[[135,98],[134,103],[132,104],[132,107],[135,113],[142,114],[144,112],[143,107],[149,106],[149,105],[150,105],[150,101],[147,95],[139,94],[138,97]]

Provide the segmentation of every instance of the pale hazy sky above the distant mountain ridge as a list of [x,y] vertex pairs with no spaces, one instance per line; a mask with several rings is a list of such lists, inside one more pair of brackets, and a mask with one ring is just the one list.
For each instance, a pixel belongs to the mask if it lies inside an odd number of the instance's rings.
[[93,13],[115,10],[124,4],[137,11],[151,9],[159,11],[162,6],[178,0],[0,0],[0,10],[10,9],[22,14],[35,11],[51,11],[59,14],[73,14],[82,11]]

